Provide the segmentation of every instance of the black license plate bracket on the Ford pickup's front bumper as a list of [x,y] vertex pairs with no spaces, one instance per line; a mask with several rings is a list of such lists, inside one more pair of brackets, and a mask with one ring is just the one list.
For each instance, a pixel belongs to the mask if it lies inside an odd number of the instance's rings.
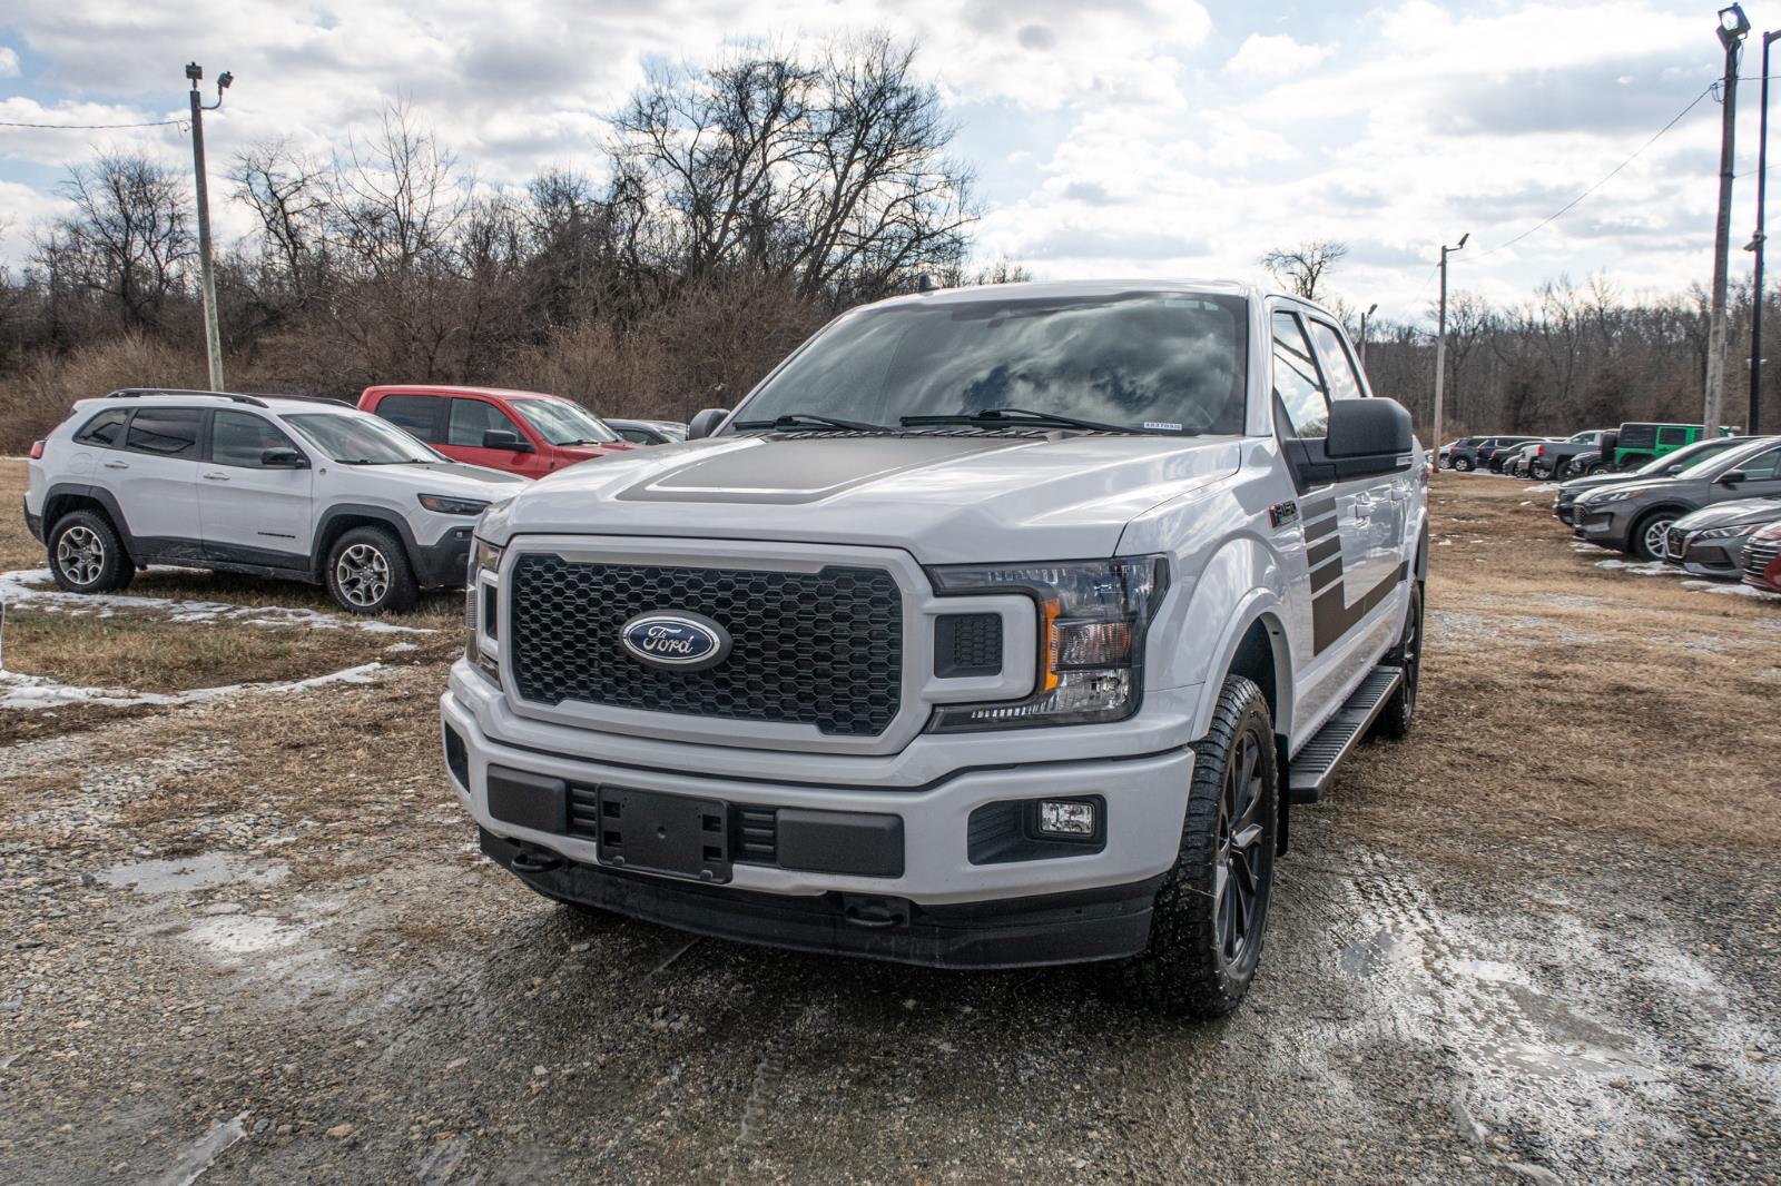
[[718,800],[600,787],[602,865],[691,881],[730,880],[730,808]]

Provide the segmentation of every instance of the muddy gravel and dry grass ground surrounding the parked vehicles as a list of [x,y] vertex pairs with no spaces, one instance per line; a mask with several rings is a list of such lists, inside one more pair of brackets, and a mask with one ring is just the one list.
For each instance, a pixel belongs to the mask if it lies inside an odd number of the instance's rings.
[[[0,1181],[1781,1181],[1781,598],[1605,568],[1549,502],[1437,481],[1418,727],[1295,814],[1215,1024],[534,898],[436,757],[449,600],[395,652],[27,602],[7,666],[64,684],[379,666],[0,709]],[[0,561],[43,565],[16,522]]]

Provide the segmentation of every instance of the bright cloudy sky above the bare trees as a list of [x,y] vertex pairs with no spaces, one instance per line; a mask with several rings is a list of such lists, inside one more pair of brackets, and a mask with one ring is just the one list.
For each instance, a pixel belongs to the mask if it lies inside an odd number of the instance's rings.
[[[1453,285],[1519,301],[1560,272],[1626,292],[1712,269],[1722,69],[1715,4],[1621,0],[7,0],[0,121],[180,116],[183,64],[237,77],[207,119],[214,173],[289,135],[328,151],[397,94],[488,185],[598,171],[604,116],[652,62],[846,30],[914,37],[962,125],[983,258],[1042,278],[1256,276],[1270,246],[1341,239],[1345,299],[1419,315],[1439,242]],[[1758,25],[1781,20],[1751,5]],[[1754,80],[1758,48],[1742,69]],[[1742,91],[1735,248],[1754,223],[1756,85]],[[0,126],[0,260],[21,264],[69,162],[189,162],[173,128]],[[216,196],[214,196],[216,201]],[[216,201],[219,233],[246,212]],[[1735,276],[1749,255],[1735,251]]]

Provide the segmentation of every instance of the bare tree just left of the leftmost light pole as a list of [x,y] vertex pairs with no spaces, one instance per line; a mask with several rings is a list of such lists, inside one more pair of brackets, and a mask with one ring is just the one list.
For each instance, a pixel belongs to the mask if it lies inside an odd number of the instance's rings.
[[[183,178],[148,157],[102,155],[69,166],[62,194],[75,212],[50,240],[66,281],[103,297],[126,328],[162,324],[192,255]],[[50,255],[39,239],[39,256]]]

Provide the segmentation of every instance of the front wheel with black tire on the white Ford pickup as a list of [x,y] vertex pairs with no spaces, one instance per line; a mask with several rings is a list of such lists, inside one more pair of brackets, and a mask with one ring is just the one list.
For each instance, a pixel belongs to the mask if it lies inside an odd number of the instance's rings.
[[1181,853],[1156,892],[1151,942],[1111,974],[1140,1004],[1218,1017],[1256,976],[1273,889],[1281,771],[1261,689],[1227,677],[1213,727],[1193,748]]

